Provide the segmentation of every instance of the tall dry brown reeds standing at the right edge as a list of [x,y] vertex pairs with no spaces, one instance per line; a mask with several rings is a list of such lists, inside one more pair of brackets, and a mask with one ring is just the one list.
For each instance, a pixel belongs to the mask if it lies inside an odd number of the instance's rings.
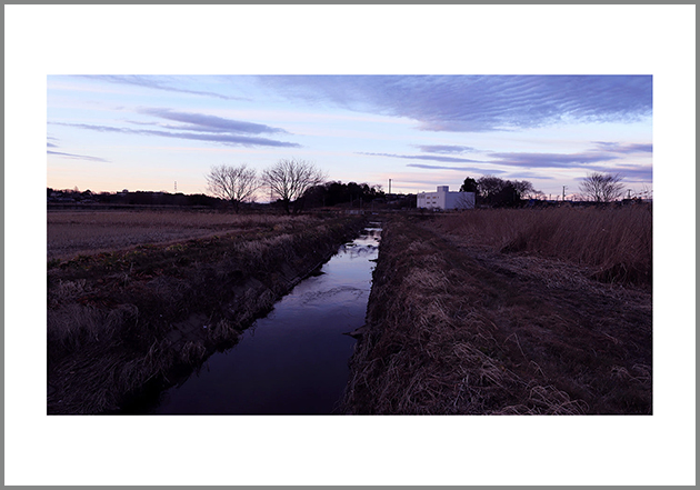
[[606,282],[651,284],[648,206],[476,210],[442,221],[466,243],[574,262]]

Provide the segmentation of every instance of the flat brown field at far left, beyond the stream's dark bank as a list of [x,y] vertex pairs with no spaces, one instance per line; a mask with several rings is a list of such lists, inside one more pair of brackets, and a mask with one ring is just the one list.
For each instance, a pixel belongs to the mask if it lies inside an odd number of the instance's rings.
[[49,211],[47,257],[67,259],[144,243],[170,243],[251,229],[284,229],[308,216],[208,211]]

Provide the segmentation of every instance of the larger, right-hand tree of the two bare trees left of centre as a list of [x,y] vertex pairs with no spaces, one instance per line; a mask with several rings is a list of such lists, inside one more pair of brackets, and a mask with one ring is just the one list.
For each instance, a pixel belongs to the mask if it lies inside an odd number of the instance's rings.
[[[304,160],[282,159],[262,171],[262,181],[270,188],[272,194],[282,201],[287,213],[291,212],[290,204],[299,200],[307,189],[320,184],[323,180],[326,173]],[[297,207],[297,211],[299,210]]]

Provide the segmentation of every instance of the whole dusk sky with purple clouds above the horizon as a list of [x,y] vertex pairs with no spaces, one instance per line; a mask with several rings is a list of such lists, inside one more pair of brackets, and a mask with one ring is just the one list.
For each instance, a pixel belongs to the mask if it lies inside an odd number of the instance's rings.
[[570,199],[606,172],[640,196],[652,91],[650,74],[49,76],[47,186],[207,193],[212,166],[294,158],[402,193],[491,174]]

